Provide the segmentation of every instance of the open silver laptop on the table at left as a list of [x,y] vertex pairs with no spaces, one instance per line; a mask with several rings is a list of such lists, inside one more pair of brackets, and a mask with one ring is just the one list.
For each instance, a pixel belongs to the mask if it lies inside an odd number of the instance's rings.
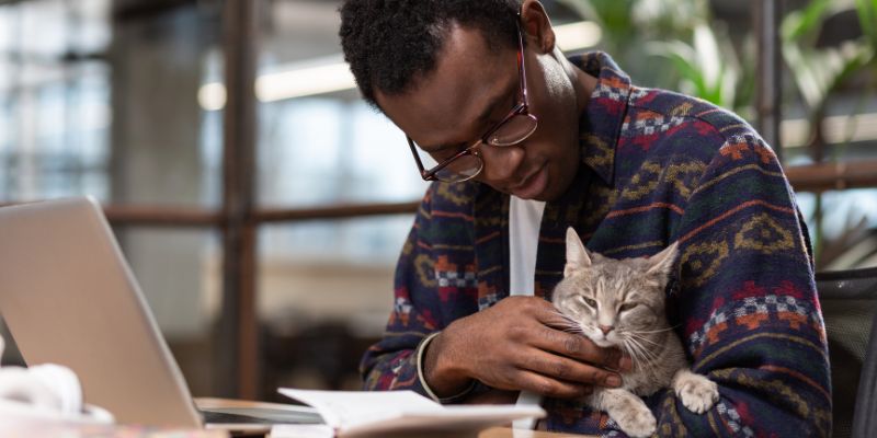
[[200,412],[92,198],[0,208],[0,314],[25,362],[69,367],[84,402],[118,424],[259,430],[322,423],[309,407],[284,404]]

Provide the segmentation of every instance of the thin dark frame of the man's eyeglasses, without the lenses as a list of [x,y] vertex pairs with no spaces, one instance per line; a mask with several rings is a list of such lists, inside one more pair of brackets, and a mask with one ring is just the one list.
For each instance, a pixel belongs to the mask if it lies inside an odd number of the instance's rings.
[[514,146],[514,145],[517,145],[521,141],[524,141],[527,138],[529,138],[529,136],[533,135],[533,132],[535,131],[535,128],[534,128],[529,134],[527,134],[526,136],[522,137],[520,140],[517,140],[515,142],[511,142],[509,145],[502,145],[502,146],[492,145],[492,143],[490,143],[488,141],[488,138],[490,138],[491,135],[493,135],[496,131],[498,131],[503,125],[509,123],[509,120],[511,120],[513,117],[516,117],[519,115],[529,116],[529,117],[532,117],[534,119],[534,122],[536,122],[538,124],[538,118],[535,115],[529,113],[529,101],[527,100],[527,73],[526,73],[526,64],[524,62],[524,35],[523,35],[523,32],[521,32],[520,20],[521,20],[521,14],[517,15],[517,19],[515,21],[515,27],[517,28],[517,77],[519,77],[517,79],[519,79],[519,92],[521,93],[521,101],[517,102],[514,107],[512,107],[512,110],[509,112],[509,114],[505,117],[503,117],[500,122],[498,122],[490,129],[488,129],[488,131],[485,132],[485,135],[481,136],[481,138],[479,138],[477,141],[475,141],[471,146],[469,146],[468,148],[455,153],[453,157],[445,159],[444,161],[442,161],[441,163],[434,165],[430,170],[425,170],[423,168],[423,162],[420,159],[420,154],[418,154],[417,146],[414,145],[414,140],[412,140],[410,136],[406,135],[406,139],[408,140],[408,146],[411,148],[411,153],[414,155],[414,161],[418,164],[418,169],[420,170],[420,176],[423,178],[423,181],[436,181],[436,180],[437,181],[442,181],[442,180],[438,180],[435,176],[435,174],[438,171],[441,171],[442,169],[447,168],[452,162],[454,162],[455,160],[457,160],[457,159],[459,159],[462,157],[474,155],[481,162],[481,166],[472,175],[465,176],[462,180],[455,180],[454,182],[455,183],[462,183],[464,181],[469,181],[469,180],[480,175],[481,172],[485,170],[485,159],[481,157],[481,153],[478,150],[475,149],[477,146],[479,146],[479,145],[490,145],[490,146],[493,146],[493,147],[503,147],[503,148],[504,147],[509,147],[509,146]]

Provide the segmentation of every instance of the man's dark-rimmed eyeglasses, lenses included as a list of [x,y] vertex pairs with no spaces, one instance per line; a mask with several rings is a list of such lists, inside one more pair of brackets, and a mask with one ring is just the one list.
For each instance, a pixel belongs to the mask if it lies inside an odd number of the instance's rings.
[[476,149],[479,145],[490,145],[500,148],[514,146],[524,141],[529,137],[538,126],[538,119],[533,114],[529,114],[529,104],[527,103],[527,76],[524,67],[524,36],[521,32],[521,25],[517,25],[517,76],[519,76],[519,92],[521,94],[521,102],[514,105],[511,112],[503,117],[498,124],[493,125],[478,141],[472,146],[455,153],[453,157],[445,159],[437,163],[430,170],[423,168],[423,161],[418,153],[418,147],[411,137],[408,138],[408,146],[411,148],[411,153],[414,154],[414,161],[418,163],[420,176],[424,181],[438,180],[446,183],[458,183],[471,180],[481,173],[485,169],[485,161],[481,158],[481,152]]

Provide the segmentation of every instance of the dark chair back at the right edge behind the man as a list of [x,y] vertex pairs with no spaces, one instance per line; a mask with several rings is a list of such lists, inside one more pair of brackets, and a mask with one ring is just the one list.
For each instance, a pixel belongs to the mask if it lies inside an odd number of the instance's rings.
[[834,438],[877,437],[877,267],[817,273],[831,360]]

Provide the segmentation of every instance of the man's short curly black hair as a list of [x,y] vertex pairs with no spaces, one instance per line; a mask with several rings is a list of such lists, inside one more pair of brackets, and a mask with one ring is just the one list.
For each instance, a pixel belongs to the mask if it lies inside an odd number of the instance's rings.
[[341,47],[363,97],[398,95],[435,68],[451,24],[481,31],[491,49],[517,47],[521,0],[345,0]]

